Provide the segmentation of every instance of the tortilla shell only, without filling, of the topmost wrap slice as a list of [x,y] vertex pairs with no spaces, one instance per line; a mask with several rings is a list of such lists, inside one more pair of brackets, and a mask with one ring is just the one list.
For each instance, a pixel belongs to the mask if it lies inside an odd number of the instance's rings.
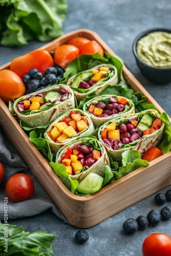
[[[102,79],[102,80],[98,81],[97,83],[94,84],[94,86],[90,87],[89,89],[86,89],[87,92],[85,92],[85,93],[78,92],[72,88],[71,82],[75,79],[75,77],[78,74],[92,71],[94,69],[99,69],[100,67],[110,67],[112,70],[114,70],[114,75],[111,78],[109,78],[108,80],[103,81],[103,79]],[[110,65],[110,64],[100,64],[100,65],[93,67],[92,69],[84,70],[84,71],[79,72],[76,75],[70,77],[69,80],[67,81],[67,86],[71,87],[71,89],[73,90],[73,92],[78,100],[83,100],[90,93],[95,92],[96,95],[99,95],[101,93],[101,91],[103,91],[109,84],[111,84],[111,86],[112,86],[117,83],[118,83],[118,71],[117,71],[116,67],[113,65]],[[70,86],[70,84],[71,84],[71,86]]]

